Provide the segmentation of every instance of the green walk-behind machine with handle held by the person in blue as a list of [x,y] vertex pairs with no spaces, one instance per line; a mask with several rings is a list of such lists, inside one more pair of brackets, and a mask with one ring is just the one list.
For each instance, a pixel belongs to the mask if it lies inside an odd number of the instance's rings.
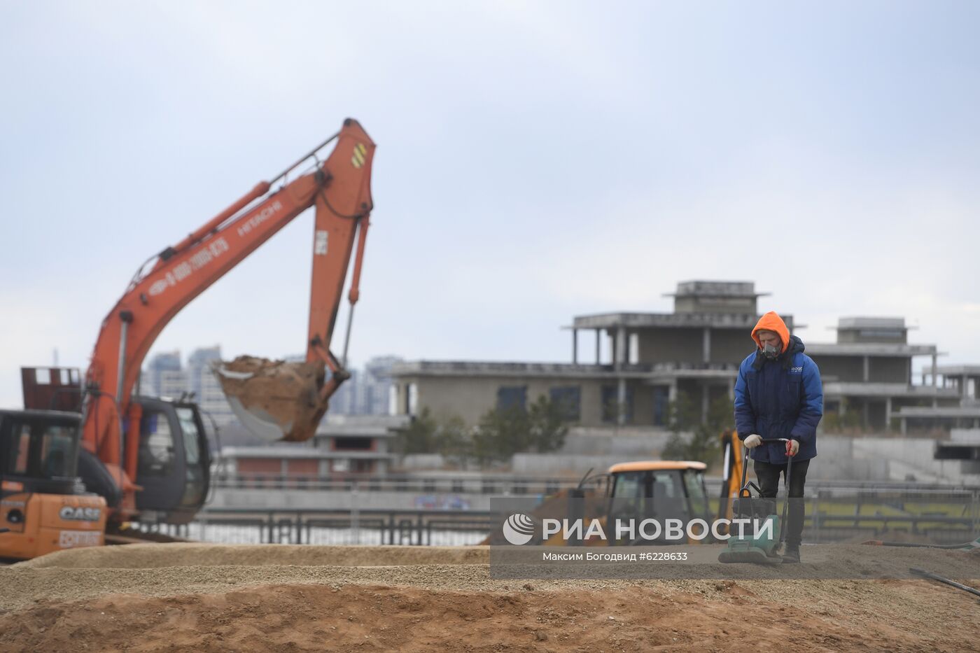
[[[789,442],[789,440],[785,437],[762,439],[762,444],[774,442]],[[746,482],[745,477],[748,469],[749,450],[746,449],[745,458],[742,460],[742,484],[738,491],[738,498],[732,500],[733,523],[728,527],[728,545],[724,551],[718,554],[718,562],[778,565],[783,562],[782,557],[776,551],[786,538],[785,524],[790,505],[789,488],[790,474],[793,471],[793,458],[788,457],[786,461],[786,496],[783,498],[781,518],[776,514],[776,500],[762,497],[762,490],[759,485],[751,480]],[[759,496],[752,496],[753,489]],[[746,528],[739,529],[734,524],[735,519],[748,519],[751,522],[746,525]],[[771,522],[772,526],[764,527],[766,522]],[[756,524],[760,525],[758,531],[755,527]]]

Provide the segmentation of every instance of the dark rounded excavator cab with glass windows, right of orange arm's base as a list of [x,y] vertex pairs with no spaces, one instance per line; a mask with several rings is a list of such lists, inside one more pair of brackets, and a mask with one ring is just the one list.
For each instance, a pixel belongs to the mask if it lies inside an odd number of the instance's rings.
[[197,404],[137,396],[136,508],[144,521],[185,524],[204,505],[211,454]]

